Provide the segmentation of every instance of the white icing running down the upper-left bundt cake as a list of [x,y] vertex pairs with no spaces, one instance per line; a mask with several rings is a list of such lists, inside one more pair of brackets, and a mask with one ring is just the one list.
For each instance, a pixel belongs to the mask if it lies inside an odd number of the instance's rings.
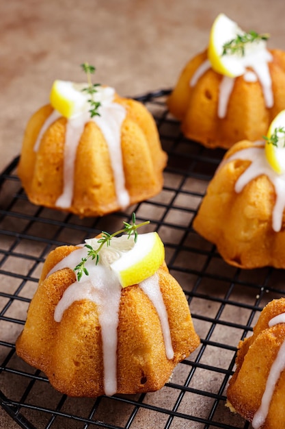
[[[121,149],[121,127],[126,117],[126,110],[123,106],[113,102],[113,88],[101,88],[96,93],[96,101],[101,102],[98,109],[100,116],[90,118],[90,113],[83,111],[81,114],[70,117],[66,123],[66,136],[64,145],[64,189],[62,195],[55,201],[55,206],[59,208],[68,208],[72,204],[74,189],[74,164],[77,155],[77,147],[83,133],[85,124],[88,121],[94,121],[100,128],[108,145],[111,167],[116,188],[118,204],[121,208],[129,205],[130,197],[125,187],[124,168],[122,162]],[[51,116],[46,119],[38,135],[36,145],[33,150],[38,151],[40,140],[47,128],[61,115],[54,110]]]

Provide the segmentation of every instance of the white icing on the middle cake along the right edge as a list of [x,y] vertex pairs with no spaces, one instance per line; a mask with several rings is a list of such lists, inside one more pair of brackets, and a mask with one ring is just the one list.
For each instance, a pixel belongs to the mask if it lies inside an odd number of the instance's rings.
[[236,193],[243,191],[245,185],[256,177],[263,174],[267,175],[275,188],[276,194],[272,212],[272,228],[275,232],[279,232],[282,228],[282,217],[285,208],[285,174],[279,175],[275,173],[265,158],[264,143],[256,142],[256,144],[260,144],[262,147],[248,147],[247,149],[237,151],[225,162],[237,159],[252,162],[236,181],[236,184],[234,185],[234,191],[236,191]]

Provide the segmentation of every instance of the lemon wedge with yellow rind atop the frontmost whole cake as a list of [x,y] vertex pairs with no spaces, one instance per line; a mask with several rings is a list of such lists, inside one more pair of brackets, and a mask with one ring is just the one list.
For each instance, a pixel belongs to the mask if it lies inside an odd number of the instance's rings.
[[120,258],[111,263],[110,267],[118,275],[124,288],[138,284],[153,275],[163,263],[164,256],[164,246],[159,234],[148,232],[139,234],[133,247],[127,252],[122,252]]

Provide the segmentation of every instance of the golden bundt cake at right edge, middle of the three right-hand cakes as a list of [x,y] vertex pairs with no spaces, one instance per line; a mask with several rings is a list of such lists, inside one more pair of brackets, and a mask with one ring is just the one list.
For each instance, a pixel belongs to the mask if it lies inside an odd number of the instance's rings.
[[228,150],[193,221],[230,265],[285,268],[285,175],[264,155],[264,141]]

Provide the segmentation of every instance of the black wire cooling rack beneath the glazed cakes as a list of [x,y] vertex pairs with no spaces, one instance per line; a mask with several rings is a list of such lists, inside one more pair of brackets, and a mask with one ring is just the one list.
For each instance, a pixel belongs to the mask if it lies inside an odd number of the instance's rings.
[[[239,340],[251,334],[262,307],[284,295],[284,271],[230,267],[193,231],[195,212],[223,151],[182,136],[165,108],[167,93],[138,98],[154,115],[169,156],[163,191],[157,197],[126,212],[79,219],[30,204],[16,176],[17,159],[0,176],[0,401],[15,427],[249,428],[226,408],[226,387]],[[120,229],[133,211],[138,221],[149,219],[163,239],[167,265],[185,291],[201,345],[155,393],[95,399],[61,395],[15,352],[42,263],[58,245],[82,243],[101,230]]]

